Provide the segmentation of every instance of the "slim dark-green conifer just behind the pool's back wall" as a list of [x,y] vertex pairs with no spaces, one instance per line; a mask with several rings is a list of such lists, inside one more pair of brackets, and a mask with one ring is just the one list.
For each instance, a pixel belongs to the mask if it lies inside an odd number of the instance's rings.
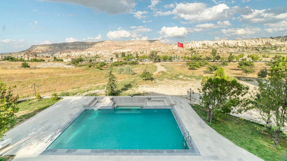
[[113,65],[111,64],[108,69],[108,74],[106,75],[108,78],[108,83],[106,85],[106,96],[115,96],[116,95],[116,88],[117,88],[117,77],[113,75]]

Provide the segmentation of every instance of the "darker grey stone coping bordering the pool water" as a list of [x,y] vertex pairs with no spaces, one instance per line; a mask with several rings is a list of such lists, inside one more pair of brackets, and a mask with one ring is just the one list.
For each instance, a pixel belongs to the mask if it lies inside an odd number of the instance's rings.
[[[86,106],[77,112],[57,133],[57,138],[63,133],[84,110],[112,110],[113,106]],[[174,106],[142,106],[142,109],[170,109],[176,120],[181,133],[187,131]],[[55,138],[53,142],[57,139]],[[191,137],[190,137],[191,138]],[[52,142],[52,143],[53,143]],[[51,144],[52,144],[51,143]],[[187,144],[189,149],[45,149],[33,155],[101,155],[101,156],[201,156],[194,141],[191,138],[192,146]],[[51,145],[49,144],[49,146]],[[47,146],[47,148],[49,147]],[[192,152],[191,147],[195,150]],[[171,151],[174,152],[171,152]],[[103,152],[104,151],[104,152]],[[137,152],[138,151],[138,152]],[[139,151],[143,151],[142,153]],[[150,151],[150,152],[145,152]]]

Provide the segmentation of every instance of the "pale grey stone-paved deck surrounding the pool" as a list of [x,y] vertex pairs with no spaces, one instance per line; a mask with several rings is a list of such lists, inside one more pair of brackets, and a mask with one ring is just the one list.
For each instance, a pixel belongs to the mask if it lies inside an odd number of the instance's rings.
[[[134,96],[139,97],[148,96]],[[262,160],[250,152],[236,146],[215,130],[210,128],[188,102],[181,98],[170,96],[150,96],[143,106],[174,106],[185,128],[197,146],[201,156],[121,156],[121,155],[82,155],[85,150],[74,152],[73,155],[40,155],[59,136],[61,129],[83,109],[84,106],[116,106],[115,102],[127,105],[138,105],[139,102],[130,101],[130,96],[119,97],[120,100],[113,102],[109,97],[101,97],[101,101],[95,97],[65,97],[53,106],[40,112],[26,122],[13,128],[6,133],[5,138],[12,138],[11,144],[2,148],[2,155],[16,155],[13,161],[18,160]],[[98,98],[98,97],[97,97]],[[142,98],[141,98],[142,99]],[[127,101],[128,100],[128,101]],[[65,150],[67,152],[67,150]],[[72,153],[71,153],[72,154]]]

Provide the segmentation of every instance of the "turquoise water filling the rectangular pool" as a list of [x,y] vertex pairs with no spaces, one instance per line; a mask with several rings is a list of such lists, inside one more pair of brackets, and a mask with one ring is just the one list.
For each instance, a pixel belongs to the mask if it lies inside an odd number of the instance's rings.
[[170,109],[84,110],[47,149],[183,149]]

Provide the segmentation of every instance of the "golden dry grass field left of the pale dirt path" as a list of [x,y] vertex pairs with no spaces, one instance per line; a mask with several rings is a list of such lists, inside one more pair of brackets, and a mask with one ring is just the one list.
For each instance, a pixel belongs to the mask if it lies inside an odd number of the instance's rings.
[[[64,67],[46,67],[35,68],[40,65],[39,62],[29,62],[30,68],[15,68],[21,66],[22,62],[0,62],[0,80],[8,86],[16,86],[14,93],[20,98],[30,98],[35,96],[34,84],[36,92],[40,92],[41,96],[48,96],[54,92],[71,91],[71,90],[97,90],[102,89],[107,82],[104,78],[107,67],[104,70],[94,67],[88,68],[86,65],[78,65],[75,68]],[[13,67],[7,69],[7,67]],[[115,67],[116,68],[116,67]],[[152,64],[144,64],[133,66],[134,70],[139,73],[143,68],[154,72],[156,67]],[[127,75],[115,75],[118,81],[129,79]],[[133,76],[135,77],[135,76]]]

